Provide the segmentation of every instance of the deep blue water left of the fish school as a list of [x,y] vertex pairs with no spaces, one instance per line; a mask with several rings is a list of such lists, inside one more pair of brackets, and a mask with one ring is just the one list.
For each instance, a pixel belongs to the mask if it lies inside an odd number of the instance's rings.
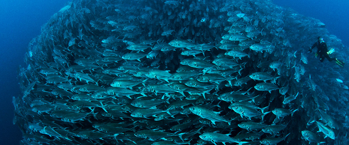
[[[70,0],[69,0],[70,1]],[[12,96],[18,96],[17,68],[29,41],[68,0],[0,0],[0,144],[16,145],[21,131],[12,124]]]

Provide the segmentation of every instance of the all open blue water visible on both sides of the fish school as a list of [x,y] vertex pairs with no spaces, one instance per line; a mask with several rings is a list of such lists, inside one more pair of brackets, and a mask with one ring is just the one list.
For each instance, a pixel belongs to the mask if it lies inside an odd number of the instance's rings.
[[[21,131],[12,124],[12,96],[21,95],[17,69],[24,65],[28,43],[41,33],[41,26],[67,3],[68,0],[0,0],[0,144],[15,145],[21,140]],[[348,0],[274,0],[274,3],[319,19],[326,24],[330,34],[349,45]]]

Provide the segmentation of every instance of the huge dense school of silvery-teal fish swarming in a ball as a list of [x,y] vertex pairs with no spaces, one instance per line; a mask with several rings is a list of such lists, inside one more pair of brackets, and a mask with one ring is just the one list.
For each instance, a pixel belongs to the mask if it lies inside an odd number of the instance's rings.
[[318,36],[348,54],[269,0],[73,0],[29,44],[14,123],[26,145],[348,144]]

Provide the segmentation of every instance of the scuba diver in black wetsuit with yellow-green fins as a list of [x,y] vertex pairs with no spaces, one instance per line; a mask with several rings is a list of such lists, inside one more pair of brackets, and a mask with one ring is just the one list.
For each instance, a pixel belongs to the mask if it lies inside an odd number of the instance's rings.
[[319,56],[320,57],[320,62],[324,62],[324,59],[327,58],[328,61],[336,61],[336,63],[340,66],[344,66],[344,62],[339,61],[337,58],[331,58],[329,57],[329,54],[332,54],[334,52],[334,49],[332,48],[331,50],[329,50],[327,52],[327,45],[325,43],[325,41],[321,38],[318,37],[318,41],[314,43],[314,45],[312,47],[309,48],[309,52],[312,52],[312,49],[314,47],[318,48],[317,53],[315,54],[315,56]]

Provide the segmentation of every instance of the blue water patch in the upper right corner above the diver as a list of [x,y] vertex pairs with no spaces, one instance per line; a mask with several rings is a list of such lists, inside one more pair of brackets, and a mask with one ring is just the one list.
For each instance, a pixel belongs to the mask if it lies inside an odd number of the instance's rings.
[[[276,5],[290,7],[304,16],[319,19],[330,34],[349,46],[349,0],[273,0]],[[315,41],[315,40],[314,40]]]

